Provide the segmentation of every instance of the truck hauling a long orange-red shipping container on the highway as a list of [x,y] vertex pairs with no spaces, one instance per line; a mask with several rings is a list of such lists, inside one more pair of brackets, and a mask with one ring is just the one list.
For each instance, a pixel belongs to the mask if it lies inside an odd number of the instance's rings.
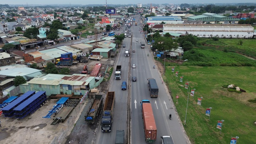
[[142,119],[144,124],[145,141],[154,143],[156,141],[156,122],[154,119],[153,110],[149,100],[140,102],[142,110]]

